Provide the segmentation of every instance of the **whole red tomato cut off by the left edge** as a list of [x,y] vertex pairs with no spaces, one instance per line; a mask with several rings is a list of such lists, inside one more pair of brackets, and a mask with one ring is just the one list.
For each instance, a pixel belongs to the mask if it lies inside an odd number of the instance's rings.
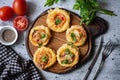
[[13,16],[13,9],[9,6],[3,6],[0,8],[0,19],[3,21],[7,21]]

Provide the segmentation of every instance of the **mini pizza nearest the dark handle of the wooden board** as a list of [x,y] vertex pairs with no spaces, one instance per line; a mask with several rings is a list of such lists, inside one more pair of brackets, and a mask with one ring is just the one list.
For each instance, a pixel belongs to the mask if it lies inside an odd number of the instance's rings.
[[84,27],[80,25],[73,25],[66,31],[66,38],[68,42],[74,43],[75,46],[82,46],[86,42],[87,33]]

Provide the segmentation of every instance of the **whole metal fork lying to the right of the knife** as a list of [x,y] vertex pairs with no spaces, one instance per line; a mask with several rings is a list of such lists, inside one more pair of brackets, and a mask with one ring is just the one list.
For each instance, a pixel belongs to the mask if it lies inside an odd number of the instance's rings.
[[102,51],[102,59],[101,59],[99,68],[98,68],[93,80],[96,80],[98,74],[100,73],[100,71],[105,63],[106,58],[110,55],[112,50],[113,50],[113,45],[112,45],[111,41],[108,41],[107,44],[105,45],[103,51]]

